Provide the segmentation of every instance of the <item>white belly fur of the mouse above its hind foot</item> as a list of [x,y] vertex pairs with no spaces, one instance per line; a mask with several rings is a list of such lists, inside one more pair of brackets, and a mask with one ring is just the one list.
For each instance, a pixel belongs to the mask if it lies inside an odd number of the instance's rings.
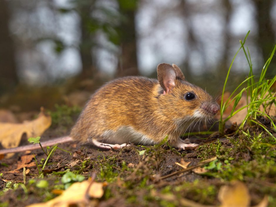
[[124,126],[120,127],[117,131],[107,130],[103,133],[103,140],[107,144],[124,144],[131,142],[133,144],[153,145],[156,144],[152,139],[146,135],[136,131],[133,127]]

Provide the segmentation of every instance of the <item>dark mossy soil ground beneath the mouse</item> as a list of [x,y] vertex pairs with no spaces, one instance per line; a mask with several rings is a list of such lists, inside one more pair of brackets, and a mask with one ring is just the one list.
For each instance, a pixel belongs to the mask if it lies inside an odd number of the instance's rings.
[[[60,136],[66,130],[68,133],[68,129],[54,127],[42,138]],[[228,129],[226,134],[232,135],[219,139],[214,135],[211,139],[193,137],[202,145],[187,150],[174,149],[166,143],[110,151],[99,151],[79,143],[60,144],[60,148],[71,154],[57,149],[40,177],[38,166],[28,167],[30,171],[24,185],[14,185],[23,183],[23,169],[18,173],[6,173],[16,169],[17,161],[23,155],[18,153],[0,161],[0,206],[26,206],[54,198],[57,195],[53,190],[64,189],[61,177],[68,171],[86,179],[95,173],[95,181],[107,182],[97,206],[181,206],[178,198],[218,206],[218,190],[231,180],[246,184],[251,205],[256,205],[267,195],[269,206],[276,206],[275,139],[257,127],[250,128],[247,136],[233,132]],[[47,156],[42,150],[32,153],[41,169]],[[206,172],[203,174],[190,170],[163,177],[182,169],[176,162],[190,161],[189,166],[193,166],[215,156],[216,160],[204,165]],[[41,179],[46,180],[48,186],[37,185]],[[153,190],[159,196],[153,194]],[[166,195],[171,194],[176,196],[175,201],[167,199]]]

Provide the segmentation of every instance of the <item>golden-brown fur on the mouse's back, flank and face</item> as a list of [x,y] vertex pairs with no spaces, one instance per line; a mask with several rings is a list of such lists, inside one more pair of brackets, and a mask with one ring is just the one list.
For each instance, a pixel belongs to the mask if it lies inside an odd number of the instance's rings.
[[[184,79],[183,74],[181,78]],[[125,77],[107,83],[92,95],[70,136],[83,142],[91,139],[105,142],[106,131],[130,126],[147,135],[154,143],[169,135],[169,140],[174,144],[180,133],[186,130],[185,127],[196,120],[192,118],[196,110],[211,117],[201,109],[201,105],[203,102],[211,105],[214,101],[200,87],[179,77],[176,77],[175,87],[167,94],[162,93],[160,85],[157,80],[144,77]],[[184,100],[187,92],[194,92],[196,99]],[[122,144],[116,140],[107,143]]]

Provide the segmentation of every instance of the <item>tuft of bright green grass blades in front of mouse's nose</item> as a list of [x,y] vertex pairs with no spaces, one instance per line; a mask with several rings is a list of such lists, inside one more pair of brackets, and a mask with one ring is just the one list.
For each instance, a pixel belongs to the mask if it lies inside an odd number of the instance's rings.
[[[244,46],[245,42],[246,42],[246,39],[249,35],[249,32],[245,36],[244,41],[240,41],[241,46],[238,49],[237,53],[235,54],[235,56],[234,56],[234,58],[233,58],[233,60],[230,64],[230,67],[228,69],[226,79],[225,79],[225,82],[224,82],[224,85],[223,85],[223,91],[222,91],[222,97],[221,97],[221,118],[220,118],[220,122],[219,122],[219,132],[220,132],[221,135],[223,135],[224,134],[224,128],[225,128],[225,122],[228,121],[235,114],[237,114],[238,112],[243,110],[244,108],[247,108],[247,114],[245,115],[244,119],[242,120],[242,122],[239,126],[239,129],[243,130],[243,128],[245,126],[245,123],[247,123],[248,125],[257,124],[260,127],[264,128],[270,134],[270,136],[272,136],[276,141],[276,138],[266,129],[265,126],[260,124],[260,122],[258,122],[258,120],[257,120],[257,117],[259,117],[259,116],[267,117],[271,121],[271,123],[274,127],[274,130],[276,131],[275,124],[268,115],[270,107],[272,106],[273,103],[275,104],[275,98],[276,97],[275,97],[275,93],[273,93],[272,90],[271,90],[271,86],[276,81],[276,75],[272,79],[266,79],[267,68],[269,67],[271,59],[273,58],[273,56],[275,54],[276,45],[273,48],[273,51],[272,51],[270,57],[268,58],[268,60],[266,61],[264,67],[262,68],[260,78],[258,80],[255,80],[255,75],[253,75],[252,62],[251,62],[249,49],[248,48],[245,49],[245,46]],[[232,92],[230,97],[223,103],[223,95],[224,95],[224,92],[225,92],[225,87],[226,87],[226,84],[227,84],[227,81],[228,81],[230,70],[232,68],[232,65],[234,63],[234,60],[235,60],[237,54],[241,50],[243,50],[243,52],[245,54],[245,57],[247,59],[248,65],[249,65],[248,78],[246,78],[242,83],[240,83],[240,85],[238,85],[238,87],[236,87],[235,90]],[[247,84],[247,87],[244,87],[243,89],[241,89],[238,92],[238,94],[236,94],[238,89],[241,86],[243,86],[245,83]],[[240,101],[240,99],[242,97],[242,94],[244,92],[246,92],[246,94],[247,94],[247,105],[235,110],[237,105],[238,105],[238,102]],[[229,105],[232,102],[234,102],[234,104],[233,104],[233,108],[231,110],[231,113],[227,118],[225,118],[223,120],[223,113],[225,112],[227,107],[229,107]],[[263,107],[262,111],[260,111],[261,106]]]

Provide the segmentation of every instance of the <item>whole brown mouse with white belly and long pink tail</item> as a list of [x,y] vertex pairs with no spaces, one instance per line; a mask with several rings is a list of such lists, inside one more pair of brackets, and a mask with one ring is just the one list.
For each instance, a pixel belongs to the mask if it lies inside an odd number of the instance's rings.
[[[43,147],[78,141],[100,149],[128,143],[159,144],[167,137],[175,148],[195,147],[179,137],[196,123],[213,119],[218,103],[189,83],[175,64],[157,66],[157,79],[127,76],[100,87],[85,105],[70,135],[41,142]],[[0,154],[39,149],[38,144],[0,150]]]

